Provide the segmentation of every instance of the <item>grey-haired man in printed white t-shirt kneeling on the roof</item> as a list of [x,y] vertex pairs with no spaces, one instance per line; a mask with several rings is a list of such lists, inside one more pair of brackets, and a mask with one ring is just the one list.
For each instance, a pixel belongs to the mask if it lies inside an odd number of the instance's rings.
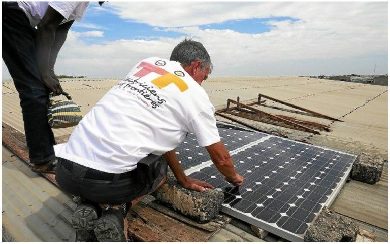
[[127,211],[165,182],[168,165],[185,188],[213,188],[180,167],[175,148],[188,132],[226,181],[242,184],[201,87],[211,69],[204,46],[185,39],[170,60],[153,57],[134,66],[81,120],[68,143],[56,146],[57,183],[83,199],[72,219],[77,241],[87,240],[92,230],[99,241],[127,241]]

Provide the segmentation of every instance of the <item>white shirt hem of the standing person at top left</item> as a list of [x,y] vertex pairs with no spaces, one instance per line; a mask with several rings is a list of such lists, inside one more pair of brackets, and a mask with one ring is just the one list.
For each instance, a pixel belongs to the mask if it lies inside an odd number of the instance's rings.
[[61,23],[63,24],[71,20],[81,21],[88,5],[89,2],[18,2],[32,27],[38,25],[49,6],[65,18]]

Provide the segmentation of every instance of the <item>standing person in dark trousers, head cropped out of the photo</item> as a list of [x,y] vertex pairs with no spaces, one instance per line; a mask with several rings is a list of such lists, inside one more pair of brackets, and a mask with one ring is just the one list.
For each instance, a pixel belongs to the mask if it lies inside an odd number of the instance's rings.
[[[49,93],[62,92],[54,74],[59,50],[89,2],[2,2],[2,57],[19,93],[32,171],[54,173]],[[37,29],[35,28],[37,27]]]

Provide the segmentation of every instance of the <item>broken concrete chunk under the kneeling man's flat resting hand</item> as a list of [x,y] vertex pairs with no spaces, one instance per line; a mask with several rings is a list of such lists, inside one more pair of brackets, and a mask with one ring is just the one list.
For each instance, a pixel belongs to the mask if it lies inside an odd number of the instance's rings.
[[166,183],[152,195],[160,203],[199,223],[212,220],[221,210],[224,198],[223,193],[215,189],[208,189],[206,192],[185,189],[173,173],[168,173]]

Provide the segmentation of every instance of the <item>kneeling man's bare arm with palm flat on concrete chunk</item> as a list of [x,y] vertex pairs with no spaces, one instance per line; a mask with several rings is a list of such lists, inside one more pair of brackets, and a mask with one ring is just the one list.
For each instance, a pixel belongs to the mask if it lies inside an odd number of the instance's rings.
[[191,177],[188,177],[183,172],[183,169],[180,166],[179,160],[177,159],[175,150],[166,152],[164,154],[165,160],[167,160],[169,167],[171,168],[173,174],[175,175],[176,179],[180,182],[180,184],[191,190],[197,190],[204,192],[206,191],[205,187],[207,188],[214,188],[209,183],[199,181],[196,179],[193,179]]

